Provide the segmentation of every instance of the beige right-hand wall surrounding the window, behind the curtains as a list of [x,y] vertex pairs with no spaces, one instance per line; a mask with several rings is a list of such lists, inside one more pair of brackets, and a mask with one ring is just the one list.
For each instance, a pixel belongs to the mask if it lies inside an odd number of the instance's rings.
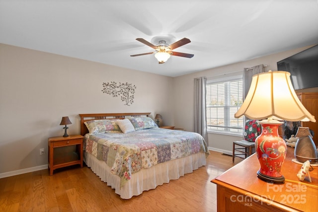
[[[298,52],[310,48],[303,47],[286,51],[278,54],[269,55],[257,59],[247,60],[244,62],[231,64],[206,71],[195,72],[183,76],[173,78],[173,95],[175,98],[174,104],[174,124],[178,128],[184,128],[187,131],[193,131],[193,84],[194,78],[206,76],[208,78],[227,76],[229,73],[242,71],[244,68],[253,67],[255,65],[267,65],[265,71],[277,71],[277,62]],[[211,58],[213,60],[213,58]],[[318,88],[306,89],[307,92],[318,92]],[[237,141],[242,137],[224,136],[219,134],[208,135],[209,147],[215,150],[230,153],[232,151],[232,141]]]

